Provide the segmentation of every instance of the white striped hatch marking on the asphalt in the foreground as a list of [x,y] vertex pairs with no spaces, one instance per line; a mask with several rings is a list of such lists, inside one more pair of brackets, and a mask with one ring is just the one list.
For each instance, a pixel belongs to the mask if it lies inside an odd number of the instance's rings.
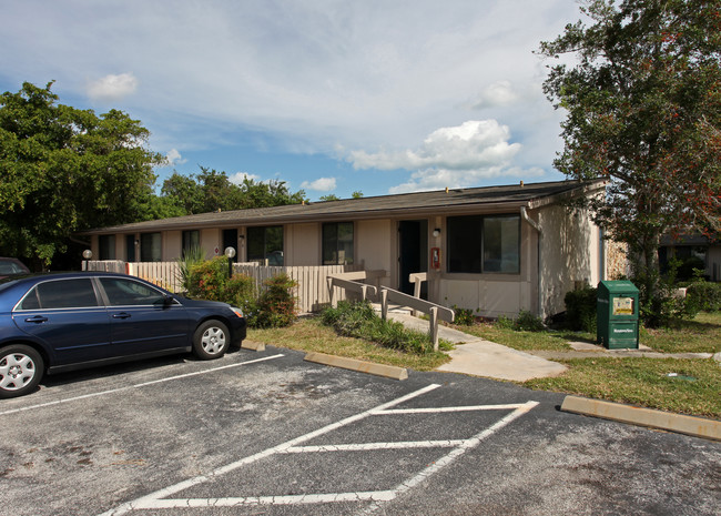
[[[240,461],[231,463],[226,466],[220,467],[207,475],[196,476],[187,480],[181,482],[173,486],[156,490],[146,496],[138,498],[133,502],[125,503],[114,509],[110,509],[100,516],[120,516],[132,510],[144,509],[166,509],[166,508],[200,508],[200,507],[232,507],[232,506],[255,506],[255,505],[304,505],[304,504],[323,504],[323,503],[337,503],[337,502],[372,502],[363,513],[370,514],[379,509],[384,503],[390,502],[414,488],[428,477],[439,472],[441,468],[450,465],[454,461],[460,457],[467,451],[478,446],[480,442],[504,426],[508,425],[518,417],[527,414],[538,405],[538,402],[529,401],[520,404],[504,404],[504,405],[474,405],[461,407],[437,407],[437,408],[409,408],[409,409],[392,409],[392,407],[399,405],[404,402],[422,396],[430,391],[440,387],[438,384],[430,384],[427,387],[420,388],[405,396],[398,397],[390,402],[378,405],[377,407],[358,413],[356,415],[346,417],[339,422],[329,424],[317,431],[305,434],[301,437],[293,438],[277,446],[267,448],[263,452],[250,455]],[[328,434],[335,429],[342,428],[352,423],[360,422],[370,416],[392,415],[392,414],[431,414],[431,413],[449,413],[449,412],[465,412],[465,411],[512,411],[488,428],[479,432],[468,439],[448,439],[448,441],[418,441],[418,442],[397,442],[397,443],[367,443],[367,444],[338,444],[338,445],[322,445],[322,446],[299,446],[315,437]],[[272,455],[281,454],[296,454],[296,453],[329,453],[329,452],[364,452],[374,449],[405,449],[405,448],[451,448],[451,451],[435,461],[431,465],[420,471],[410,478],[402,482],[393,489],[373,490],[373,492],[355,492],[355,493],[325,493],[325,494],[306,494],[306,495],[278,495],[278,496],[247,496],[247,497],[217,497],[217,498],[171,498],[173,495],[185,490],[190,487],[204,484],[206,482],[219,478],[222,475],[231,473],[242,466],[255,463],[262,458]]]

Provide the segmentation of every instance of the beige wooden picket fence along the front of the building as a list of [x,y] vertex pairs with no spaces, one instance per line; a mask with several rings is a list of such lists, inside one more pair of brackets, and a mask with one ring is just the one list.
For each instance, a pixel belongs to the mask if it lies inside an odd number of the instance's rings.
[[[331,303],[331,293],[326,277],[331,274],[344,274],[363,269],[363,265],[319,265],[319,266],[261,266],[256,263],[235,263],[233,274],[245,274],[255,281],[260,289],[263,283],[278,274],[287,274],[298,283],[295,295],[298,299],[298,310],[302,313],[317,312]],[[130,274],[141,277],[167,291],[179,293],[183,289],[180,281],[180,270],[176,262],[123,262],[120,260],[83,261],[83,271],[106,271]],[[345,300],[343,289],[334,289],[336,300]]]

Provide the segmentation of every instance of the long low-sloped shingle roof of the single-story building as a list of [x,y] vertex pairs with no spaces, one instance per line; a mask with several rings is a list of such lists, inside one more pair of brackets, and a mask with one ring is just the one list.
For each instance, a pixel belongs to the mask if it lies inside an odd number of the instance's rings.
[[360,220],[406,215],[461,213],[469,210],[514,210],[538,208],[566,195],[583,194],[602,188],[603,182],[558,181],[474,189],[344,199],[285,206],[200,213],[156,221],[100,227],[81,234],[132,233],[142,231],[238,225],[272,225],[291,222]]

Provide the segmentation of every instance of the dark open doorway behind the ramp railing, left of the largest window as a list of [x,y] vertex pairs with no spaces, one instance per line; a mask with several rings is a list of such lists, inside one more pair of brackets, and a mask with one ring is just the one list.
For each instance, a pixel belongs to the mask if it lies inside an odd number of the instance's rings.
[[[414,284],[408,276],[416,272],[428,271],[428,221],[398,222],[398,290],[413,295]],[[420,296],[427,299],[426,284],[423,284]]]

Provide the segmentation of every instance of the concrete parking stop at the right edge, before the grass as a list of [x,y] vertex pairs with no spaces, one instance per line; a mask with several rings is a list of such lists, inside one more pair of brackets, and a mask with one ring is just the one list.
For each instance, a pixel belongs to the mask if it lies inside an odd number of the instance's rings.
[[704,439],[721,441],[721,421],[670,414],[578,396],[566,396],[561,404],[561,411],[632,425],[650,426]]

